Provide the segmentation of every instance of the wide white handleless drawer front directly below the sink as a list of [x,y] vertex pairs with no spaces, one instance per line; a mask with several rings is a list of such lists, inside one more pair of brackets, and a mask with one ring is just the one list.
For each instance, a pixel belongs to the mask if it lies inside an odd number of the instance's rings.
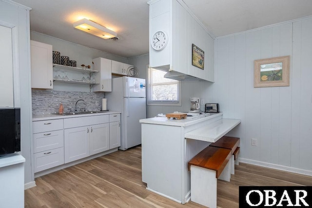
[[81,126],[91,126],[108,122],[108,115],[91,115],[76,118],[64,118],[64,129],[76,128]]

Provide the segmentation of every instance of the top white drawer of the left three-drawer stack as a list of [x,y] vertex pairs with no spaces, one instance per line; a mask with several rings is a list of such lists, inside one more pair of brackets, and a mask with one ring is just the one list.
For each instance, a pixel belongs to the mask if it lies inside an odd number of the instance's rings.
[[63,129],[63,119],[33,121],[33,133],[51,132]]

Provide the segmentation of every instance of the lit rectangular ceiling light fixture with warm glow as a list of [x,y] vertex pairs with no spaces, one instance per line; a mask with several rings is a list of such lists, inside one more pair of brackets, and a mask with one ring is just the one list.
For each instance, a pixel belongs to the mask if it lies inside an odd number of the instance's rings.
[[103,27],[102,25],[99,25],[89,19],[80,19],[74,22],[74,27],[86,33],[98,36],[99,38],[108,39],[117,36],[116,32],[107,29],[106,27]]

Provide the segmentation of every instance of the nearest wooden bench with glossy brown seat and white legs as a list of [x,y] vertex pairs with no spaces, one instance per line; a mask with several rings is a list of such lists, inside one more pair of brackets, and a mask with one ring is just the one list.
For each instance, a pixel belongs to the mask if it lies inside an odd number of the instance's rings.
[[230,181],[231,157],[232,151],[229,149],[208,146],[190,160],[191,201],[216,208],[217,178]]

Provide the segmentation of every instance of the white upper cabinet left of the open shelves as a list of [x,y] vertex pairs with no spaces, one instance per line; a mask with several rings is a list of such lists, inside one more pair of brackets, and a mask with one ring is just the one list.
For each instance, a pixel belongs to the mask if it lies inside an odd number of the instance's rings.
[[31,87],[53,89],[52,45],[30,41]]

